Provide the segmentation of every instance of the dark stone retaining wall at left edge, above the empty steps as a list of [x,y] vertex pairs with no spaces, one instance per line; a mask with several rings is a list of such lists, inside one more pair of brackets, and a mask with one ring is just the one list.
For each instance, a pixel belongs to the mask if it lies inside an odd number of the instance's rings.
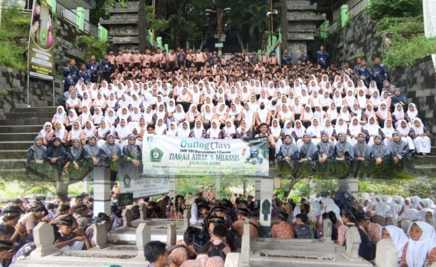
[[[33,107],[53,106],[52,81],[30,78],[29,105]],[[0,117],[11,113],[14,108],[27,105],[27,74],[16,69],[0,66],[0,90],[10,90],[0,94]],[[55,103],[57,106],[62,97],[63,83],[55,81]]]

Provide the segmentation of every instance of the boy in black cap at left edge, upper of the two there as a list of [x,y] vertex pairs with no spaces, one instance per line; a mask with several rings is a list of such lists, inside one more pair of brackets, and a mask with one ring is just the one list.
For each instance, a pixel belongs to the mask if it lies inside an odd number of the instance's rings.
[[0,222],[0,226],[4,227],[6,231],[11,235],[11,241],[23,242],[25,235],[25,228],[21,222],[18,222],[21,215],[21,209],[17,206],[9,206],[3,212],[3,219]]

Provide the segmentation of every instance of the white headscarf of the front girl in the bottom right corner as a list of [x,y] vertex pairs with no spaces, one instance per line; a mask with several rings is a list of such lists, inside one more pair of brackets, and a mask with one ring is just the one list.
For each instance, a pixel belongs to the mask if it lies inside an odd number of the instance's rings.
[[418,241],[409,239],[406,251],[406,262],[409,267],[422,267],[427,258],[428,252],[436,247],[436,232],[434,227],[424,221],[415,221],[410,224],[408,233],[413,225],[418,225],[422,230],[422,235]]

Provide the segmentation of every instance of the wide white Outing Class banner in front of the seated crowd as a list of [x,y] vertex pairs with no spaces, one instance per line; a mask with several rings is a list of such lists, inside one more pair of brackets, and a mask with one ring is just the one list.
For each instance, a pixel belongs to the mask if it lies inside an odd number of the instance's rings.
[[194,139],[148,136],[142,143],[147,177],[268,176],[267,138]]

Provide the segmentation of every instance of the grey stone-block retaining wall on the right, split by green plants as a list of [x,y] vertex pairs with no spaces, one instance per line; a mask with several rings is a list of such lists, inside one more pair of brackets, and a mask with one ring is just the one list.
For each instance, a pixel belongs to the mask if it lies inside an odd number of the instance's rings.
[[[371,66],[374,57],[381,55],[386,41],[385,34],[375,36],[376,30],[377,21],[370,20],[368,14],[362,13],[355,17],[326,43],[326,50],[330,54],[329,62],[343,67],[344,60],[351,60],[353,67],[356,54],[364,53]],[[435,65],[431,56],[427,56],[412,67],[388,70],[391,82],[403,90],[409,102],[417,105],[420,118],[433,134],[436,133]]]

